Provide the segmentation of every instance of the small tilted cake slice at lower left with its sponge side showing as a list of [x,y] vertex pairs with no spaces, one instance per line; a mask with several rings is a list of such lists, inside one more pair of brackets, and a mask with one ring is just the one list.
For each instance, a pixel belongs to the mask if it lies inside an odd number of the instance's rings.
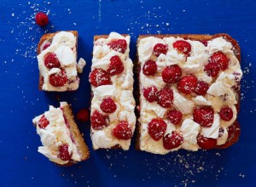
[[69,166],[89,158],[90,152],[74,122],[70,105],[61,102],[60,108],[49,106],[49,111],[32,120],[43,146],[38,152],[62,166]]

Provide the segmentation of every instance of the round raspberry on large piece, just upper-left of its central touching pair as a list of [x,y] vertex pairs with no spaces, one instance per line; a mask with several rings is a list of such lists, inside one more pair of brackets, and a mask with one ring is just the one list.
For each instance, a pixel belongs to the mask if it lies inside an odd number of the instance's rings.
[[178,82],[182,75],[182,71],[178,65],[170,65],[162,72],[162,78],[166,83]]

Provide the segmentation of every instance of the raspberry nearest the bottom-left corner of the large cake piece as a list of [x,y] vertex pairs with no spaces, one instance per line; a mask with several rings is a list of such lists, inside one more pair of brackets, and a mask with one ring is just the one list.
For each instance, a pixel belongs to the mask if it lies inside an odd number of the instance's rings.
[[160,140],[166,133],[166,122],[161,119],[153,119],[148,123],[148,133],[155,141]]

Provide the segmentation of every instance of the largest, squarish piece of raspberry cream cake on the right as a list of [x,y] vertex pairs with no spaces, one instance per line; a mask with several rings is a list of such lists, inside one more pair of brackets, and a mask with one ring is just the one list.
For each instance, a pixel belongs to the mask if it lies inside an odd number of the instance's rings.
[[140,36],[137,149],[225,148],[240,134],[240,48],[226,34]]

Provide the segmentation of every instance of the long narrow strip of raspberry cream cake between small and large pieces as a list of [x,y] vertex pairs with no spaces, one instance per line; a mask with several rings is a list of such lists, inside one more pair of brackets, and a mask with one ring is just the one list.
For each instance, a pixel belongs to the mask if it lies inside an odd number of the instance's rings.
[[94,37],[90,72],[90,135],[93,148],[128,150],[136,125],[130,36]]

